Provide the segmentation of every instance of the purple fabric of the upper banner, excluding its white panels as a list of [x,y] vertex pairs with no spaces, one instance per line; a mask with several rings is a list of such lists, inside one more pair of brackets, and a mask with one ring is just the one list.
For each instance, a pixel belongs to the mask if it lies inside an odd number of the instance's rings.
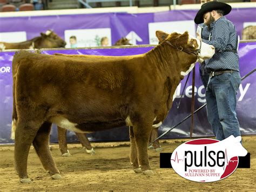
[[[256,22],[256,8],[233,9],[227,15],[237,27],[238,34],[244,28],[244,22]],[[148,24],[153,22],[170,22],[178,20],[193,20],[197,10],[174,10],[157,13],[97,13],[84,15],[56,15],[30,17],[1,17],[0,32],[25,31],[27,39],[34,38],[40,32],[54,30],[64,38],[65,30],[111,29],[112,44],[126,36],[130,31],[136,32],[142,41],[137,44],[149,44]],[[254,14],[254,16],[253,16]]]

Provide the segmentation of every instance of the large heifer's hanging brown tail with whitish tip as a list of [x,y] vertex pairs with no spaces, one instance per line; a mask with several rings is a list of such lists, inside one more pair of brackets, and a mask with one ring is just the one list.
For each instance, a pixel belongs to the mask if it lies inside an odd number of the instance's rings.
[[17,69],[19,65],[19,58],[18,55],[20,53],[15,53],[14,59],[12,60],[12,80],[13,80],[13,86],[12,86],[12,95],[13,95],[13,110],[12,110],[12,122],[11,122],[11,139],[15,139],[15,130],[17,127],[17,109],[16,109],[16,95],[15,95],[15,89],[16,89],[16,74]]

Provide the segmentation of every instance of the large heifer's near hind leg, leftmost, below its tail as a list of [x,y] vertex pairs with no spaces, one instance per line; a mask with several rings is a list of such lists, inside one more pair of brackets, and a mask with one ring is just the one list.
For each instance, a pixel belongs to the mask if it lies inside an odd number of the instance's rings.
[[36,137],[40,126],[41,124],[35,120],[27,121],[19,118],[17,121],[17,128],[15,130],[14,158],[15,169],[22,183],[31,182],[27,172],[28,155],[32,141]]

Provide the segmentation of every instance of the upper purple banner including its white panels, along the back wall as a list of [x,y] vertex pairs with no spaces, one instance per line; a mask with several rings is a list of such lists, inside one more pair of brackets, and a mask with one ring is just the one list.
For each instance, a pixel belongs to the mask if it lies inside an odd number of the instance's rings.
[[[189,31],[194,35],[196,25],[193,20],[198,10],[171,10],[156,13],[96,13],[82,15],[29,16],[29,17],[0,17],[1,33],[25,32],[26,39],[32,39],[47,30],[55,31],[66,40],[70,47],[69,38],[78,36],[79,47],[99,45],[99,39],[107,37],[109,45],[122,37],[127,37],[133,45],[157,44],[156,30],[167,33],[172,31]],[[256,25],[252,13],[256,8],[232,9],[226,17],[237,28],[241,37],[242,30],[248,25]],[[50,21],[50,22],[49,22]],[[109,31],[104,31],[108,29]],[[102,31],[103,30],[103,31]],[[93,34],[93,32],[95,34]],[[19,36],[17,35],[17,38]],[[14,38],[22,41],[24,38]],[[9,37],[0,41],[9,41]]]

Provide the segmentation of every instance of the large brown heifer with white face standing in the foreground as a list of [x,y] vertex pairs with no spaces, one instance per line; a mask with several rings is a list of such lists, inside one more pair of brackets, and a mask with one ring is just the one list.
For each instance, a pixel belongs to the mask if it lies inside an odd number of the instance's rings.
[[31,144],[52,179],[60,179],[49,150],[52,123],[83,133],[132,126],[134,172],[153,174],[147,155],[152,124],[159,116],[166,117],[174,91],[194,63],[213,54],[213,46],[189,38],[187,32],[168,35],[145,54],[106,60],[15,54],[12,130],[20,181],[31,182],[27,173]]

